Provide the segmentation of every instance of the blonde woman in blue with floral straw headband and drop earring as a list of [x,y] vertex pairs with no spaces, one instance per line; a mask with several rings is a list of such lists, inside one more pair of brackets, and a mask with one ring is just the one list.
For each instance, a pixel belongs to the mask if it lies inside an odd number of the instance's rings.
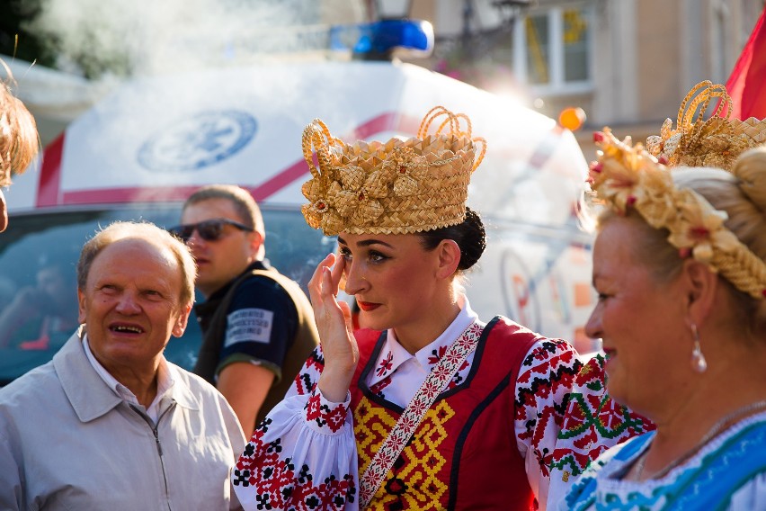
[[597,134],[586,332],[610,397],[656,430],[603,453],[558,509],[766,509],[766,121],[728,104],[698,85],[649,151]]

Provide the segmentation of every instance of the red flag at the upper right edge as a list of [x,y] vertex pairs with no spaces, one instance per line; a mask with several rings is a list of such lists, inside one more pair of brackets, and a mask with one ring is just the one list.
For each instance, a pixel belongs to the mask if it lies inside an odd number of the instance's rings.
[[732,117],[766,119],[766,7],[755,23],[735,68],[726,81],[726,92],[734,101]]

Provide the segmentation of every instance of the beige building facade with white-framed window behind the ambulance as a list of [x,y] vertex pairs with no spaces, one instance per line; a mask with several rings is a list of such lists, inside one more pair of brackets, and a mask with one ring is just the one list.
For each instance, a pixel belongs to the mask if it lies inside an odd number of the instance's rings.
[[[380,2],[379,4],[386,4]],[[724,84],[763,0],[411,0],[393,2],[432,22],[428,63],[474,85],[517,94],[556,118],[579,106],[576,135],[594,156],[592,130],[634,140],[675,120],[702,80]]]

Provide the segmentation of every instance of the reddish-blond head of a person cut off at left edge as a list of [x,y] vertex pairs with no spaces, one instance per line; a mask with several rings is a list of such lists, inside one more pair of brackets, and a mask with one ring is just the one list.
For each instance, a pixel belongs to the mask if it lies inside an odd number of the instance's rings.
[[[0,59],[13,81],[11,70]],[[11,184],[11,176],[21,174],[37,155],[40,143],[34,117],[24,104],[11,93],[7,83],[0,82],[0,186]],[[0,190],[0,232],[8,225],[5,196]]]

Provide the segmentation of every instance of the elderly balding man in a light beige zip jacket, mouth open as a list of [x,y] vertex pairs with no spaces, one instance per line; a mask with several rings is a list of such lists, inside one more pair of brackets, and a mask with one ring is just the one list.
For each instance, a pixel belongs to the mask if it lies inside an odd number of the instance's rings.
[[239,508],[234,411],[163,355],[183,335],[194,277],[188,248],[152,224],[117,222],[85,243],[82,327],[0,390],[0,508]]

